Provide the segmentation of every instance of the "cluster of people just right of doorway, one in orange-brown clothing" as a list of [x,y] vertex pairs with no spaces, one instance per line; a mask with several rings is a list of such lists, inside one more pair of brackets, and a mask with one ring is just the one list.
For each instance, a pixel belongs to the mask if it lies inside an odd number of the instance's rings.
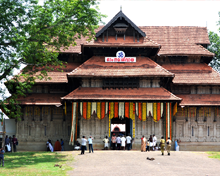
[[153,134],[153,136],[150,135],[148,140],[144,136],[141,138],[141,151],[150,151],[150,148],[152,148],[153,151],[159,148],[157,147],[157,137],[155,134]]

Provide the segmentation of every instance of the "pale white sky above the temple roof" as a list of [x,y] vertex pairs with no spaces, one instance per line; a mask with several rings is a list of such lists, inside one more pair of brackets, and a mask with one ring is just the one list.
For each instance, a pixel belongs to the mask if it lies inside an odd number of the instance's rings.
[[202,26],[218,33],[220,1],[101,0],[99,9],[108,23],[122,7],[137,26]]

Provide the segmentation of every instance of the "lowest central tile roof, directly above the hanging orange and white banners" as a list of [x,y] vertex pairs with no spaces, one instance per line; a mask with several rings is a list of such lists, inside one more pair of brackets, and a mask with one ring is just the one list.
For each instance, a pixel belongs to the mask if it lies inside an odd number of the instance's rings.
[[102,89],[100,87],[80,87],[62,100],[142,100],[142,101],[180,101],[181,98],[168,90],[160,88]]

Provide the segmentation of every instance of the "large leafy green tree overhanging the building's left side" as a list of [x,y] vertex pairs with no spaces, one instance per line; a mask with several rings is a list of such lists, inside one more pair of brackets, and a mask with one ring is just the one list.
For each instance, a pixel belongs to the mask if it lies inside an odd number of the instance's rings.
[[[36,78],[46,77],[51,65],[63,65],[61,47],[76,45],[77,38],[94,38],[103,17],[97,5],[95,0],[45,0],[43,5],[38,0],[0,0],[0,81],[7,81],[13,92],[4,101],[5,89],[0,88],[0,107],[10,118],[21,115],[17,97],[25,96]],[[13,76],[22,64],[22,73]]]

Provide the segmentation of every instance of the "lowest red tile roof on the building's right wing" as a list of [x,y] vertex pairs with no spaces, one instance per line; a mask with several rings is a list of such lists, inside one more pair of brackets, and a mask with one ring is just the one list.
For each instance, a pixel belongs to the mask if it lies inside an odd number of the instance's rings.
[[220,94],[188,94],[176,96],[182,98],[180,106],[219,106]]

